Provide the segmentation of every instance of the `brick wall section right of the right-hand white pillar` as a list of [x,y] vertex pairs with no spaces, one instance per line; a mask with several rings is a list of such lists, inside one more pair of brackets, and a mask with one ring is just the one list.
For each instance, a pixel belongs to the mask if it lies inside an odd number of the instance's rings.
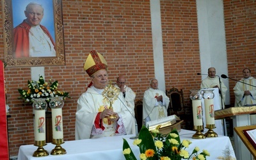
[[[241,79],[243,69],[248,67],[256,77],[256,2],[224,1],[224,16],[227,41],[228,77]],[[234,106],[234,86],[229,81],[230,104]]]

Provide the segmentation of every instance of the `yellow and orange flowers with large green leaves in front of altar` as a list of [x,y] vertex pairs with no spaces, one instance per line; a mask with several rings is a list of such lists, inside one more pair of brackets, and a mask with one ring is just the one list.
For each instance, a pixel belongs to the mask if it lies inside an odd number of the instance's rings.
[[[159,159],[159,160],[180,160],[180,159],[199,159],[204,160],[206,156],[210,156],[207,150],[203,150],[200,154],[199,148],[195,147],[193,152],[189,154],[186,148],[189,147],[191,141],[183,140],[180,142],[179,132],[174,129],[169,134],[161,134],[158,129],[148,131],[143,126],[140,130],[139,138],[134,140],[133,145],[140,148],[140,159]],[[124,139],[123,154],[125,159],[135,160],[131,147]]]

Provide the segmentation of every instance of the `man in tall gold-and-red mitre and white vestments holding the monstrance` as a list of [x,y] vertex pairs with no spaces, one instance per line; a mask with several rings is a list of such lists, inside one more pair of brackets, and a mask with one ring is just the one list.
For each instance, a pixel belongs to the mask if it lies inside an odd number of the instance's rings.
[[91,77],[91,83],[77,100],[76,140],[135,134],[131,108],[124,106],[119,90],[119,97],[112,104],[113,110],[109,109],[109,102],[102,95],[108,86],[108,65],[103,56],[91,51],[84,70]]

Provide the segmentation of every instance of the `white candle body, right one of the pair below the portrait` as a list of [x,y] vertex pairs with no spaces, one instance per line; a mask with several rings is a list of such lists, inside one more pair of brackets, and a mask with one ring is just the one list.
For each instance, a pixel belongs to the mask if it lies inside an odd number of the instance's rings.
[[62,108],[52,109],[52,138],[63,139]]

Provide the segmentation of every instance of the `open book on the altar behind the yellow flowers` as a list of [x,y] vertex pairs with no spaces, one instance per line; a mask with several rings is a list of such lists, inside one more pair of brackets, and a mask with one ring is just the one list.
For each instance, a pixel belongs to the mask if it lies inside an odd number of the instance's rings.
[[148,126],[148,130],[151,131],[152,129],[156,129],[157,126],[161,125],[160,128],[168,127],[176,123],[177,120],[180,118],[176,115],[166,116],[164,118],[160,118],[158,120],[151,120],[146,122],[146,126]]

